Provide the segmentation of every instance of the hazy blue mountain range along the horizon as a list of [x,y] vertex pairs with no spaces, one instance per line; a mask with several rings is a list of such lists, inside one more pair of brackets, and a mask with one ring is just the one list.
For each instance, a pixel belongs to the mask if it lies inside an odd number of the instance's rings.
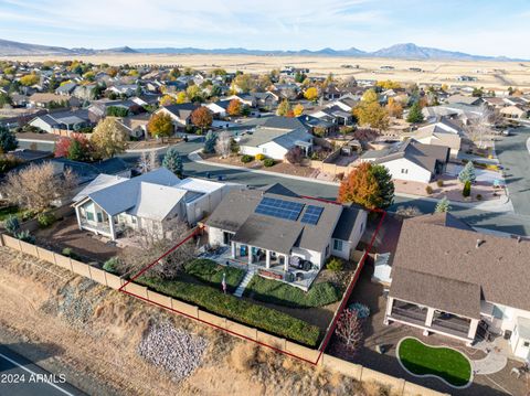
[[197,47],[159,47],[159,49],[131,49],[120,46],[107,50],[93,49],[66,49],[62,46],[38,45],[0,40],[0,56],[31,56],[31,55],[97,55],[97,54],[224,54],[224,55],[318,55],[318,56],[358,56],[358,57],[389,57],[404,60],[447,60],[447,61],[524,61],[505,56],[471,55],[463,52],[445,51],[427,46],[418,46],[413,43],[395,44],[373,52],[362,51],[356,47],[348,50],[297,50],[297,51],[266,51],[247,50],[243,47],[230,49],[197,49]]

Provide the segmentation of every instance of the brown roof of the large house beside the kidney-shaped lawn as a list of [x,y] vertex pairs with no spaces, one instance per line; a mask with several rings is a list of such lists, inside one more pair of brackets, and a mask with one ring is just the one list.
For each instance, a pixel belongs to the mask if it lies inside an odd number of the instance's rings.
[[[473,288],[464,287],[463,282],[480,287],[481,299],[486,301],[530,311],[530,242],[462,229],[465,227],[455,225],[448,216],[425,215],[403,222],[390,295],[395,292],[395,297],[399,293],[418,303],[430,301],[434,308],[465,314],[470,313],[469,301],[464,297],[456,301],[453,298],[453,293],[464,296],[465,290],[474,293]],[[410,285],[404,278],[411,270],[424,277],[421,281],[416,278],[415,282],[425,287],[406,290],[402,287],[404,282]],[[432,277],[437,281],[433,282]],[[432,285],[432,290],[427,285]]]

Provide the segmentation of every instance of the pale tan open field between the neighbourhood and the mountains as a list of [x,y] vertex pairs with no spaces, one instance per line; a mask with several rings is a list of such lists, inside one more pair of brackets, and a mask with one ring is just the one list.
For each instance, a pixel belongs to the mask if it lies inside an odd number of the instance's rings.
[[[11,56],[18,61],[65,61],[67,56]],[[256,55],[163,55],[163,54],[109,54],[75,56],[93,63],[119,64],[160,64],[189,66],[198,69],[223,67],[229,72],[236,69],[263,73],[285,65],[307,67],[310,75],[354,76],[357,79],[395,79],[424,84],[447,84],[449,86],[484,86],[486,88],[507,88],[508,86],[530,87],[530,63],[488,62],[488,61],[413,61],[367,57],[327,57],[327,56],[256,56]],[[359,68],[344,68],[351,65]],[[381,66],[394,69],[381,71]],[[420,67],[423,72],[412,72],[410,67]],[[477,77],[476,82],[457,82],[459,75]]]

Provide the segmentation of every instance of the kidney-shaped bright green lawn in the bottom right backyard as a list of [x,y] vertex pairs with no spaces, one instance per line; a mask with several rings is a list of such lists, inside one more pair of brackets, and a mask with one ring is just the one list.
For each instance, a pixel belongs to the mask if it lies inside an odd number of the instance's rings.
[[400,343],[398,356],[413,374],[436,375],[454,386],[464,386],[471,378],[469,360],[451,347],[428,346],[407,338]]

